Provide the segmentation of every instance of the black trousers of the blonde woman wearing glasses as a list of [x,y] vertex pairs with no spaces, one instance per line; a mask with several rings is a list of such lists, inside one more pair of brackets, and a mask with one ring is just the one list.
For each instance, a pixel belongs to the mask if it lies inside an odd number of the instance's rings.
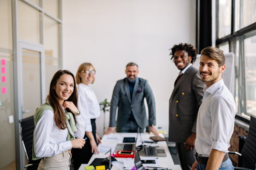
[[[93,128],[92,133],[93,133],[94,139],[97,143],[95,119],[91,119],[91,126]],[[85,137],[87,137],[86,134],[85,134],[84,138]],[[77,169],[79,169],[81,164],[87,164],[89,162],[91,156],[93,156],[93,153],[91,153],[90,139],[89,138],[86,139],[85,145],[82,149],[73,148],[72,151],[73,151],[72,158],[73,158],[74,170],[77,170]]]

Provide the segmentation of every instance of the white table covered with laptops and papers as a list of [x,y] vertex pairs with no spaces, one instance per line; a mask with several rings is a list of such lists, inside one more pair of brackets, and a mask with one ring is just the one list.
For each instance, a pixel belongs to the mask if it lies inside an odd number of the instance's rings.
[[[153,141],[150,139],[150,136],[154,136],[154,135],[150,135],[147,133],[141,134],[141,138],[143,141]],[[159,136],[163,137],[163,134],[159,134]],[[101,150],[101,152],[99,152],[99,154],[93,154],[93,156],[89,160],[88,164],[82,164],[80,166],[79,170],[85,170],[84,167],[89,166],[95,158],[105,158],[106,156],[109,156],[109,153],[105,154],[105,152],[110,150],[110,148],[112,148],[112,151],[114,151],[116,144],[122,143],[124,137],[137,137],[137,133],[115,133],[115,134],[111,133],[109,135],[104,135],[101,139],[102,144],[100,144],[98,146],[98,149]],[[142,142],[141,142],[140,135],[139,135],[136,146],[139,146],[141,144],[142,144]],[[144,144],[157,145],[157,146],[165,149],[167,156],[166,157],[158,157],[157,161],[159,164],[157,166],[155,165],[156,167],[165,167],[165,168],[172,169],[172,170],[181,170],[180,165],[174,165],[166,141],[159,141],[156,144],[155,143],[154,144],[144,143]],[[148,157],[140,156],[140,158],[144,159],[144,158],[148,158]],[[116,159],[124,160],[126,158],[116,158]],[[143,164],[143,166],[145,166],[145,165],[148,166],[148,164]],[[150,166],[153,167],[154,164],[150,164]],[[111,170],[117,170],[117,168],[115,166],[112,166]]]

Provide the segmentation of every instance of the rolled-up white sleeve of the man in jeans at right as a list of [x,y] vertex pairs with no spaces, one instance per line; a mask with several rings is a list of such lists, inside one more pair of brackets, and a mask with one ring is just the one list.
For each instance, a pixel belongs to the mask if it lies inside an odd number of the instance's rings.
[[233,109],[229,103],[225,97],[217,96],[213,98],[210,107],[212,120],[211,148],[222,152],[229,152],[229,134],[230,131],[233,131],[234,126],[232,124],[234,117]]

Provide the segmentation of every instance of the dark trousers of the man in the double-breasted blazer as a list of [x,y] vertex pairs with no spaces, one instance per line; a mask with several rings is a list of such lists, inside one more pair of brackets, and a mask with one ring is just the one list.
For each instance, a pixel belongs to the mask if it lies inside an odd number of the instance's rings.
[[193,163],[196,161],[196,149],[186,150],[183,143],[176,143],[177,151],[183,170],[191,170]]

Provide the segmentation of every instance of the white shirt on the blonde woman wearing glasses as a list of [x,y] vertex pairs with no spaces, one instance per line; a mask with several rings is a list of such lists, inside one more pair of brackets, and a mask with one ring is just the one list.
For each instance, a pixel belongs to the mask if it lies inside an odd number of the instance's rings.
[[83,83],[77,85],[77,92],[77,106],[85,123],[85,132],[92,132],[90,119],[100,116],[99,102],[93,89]]

